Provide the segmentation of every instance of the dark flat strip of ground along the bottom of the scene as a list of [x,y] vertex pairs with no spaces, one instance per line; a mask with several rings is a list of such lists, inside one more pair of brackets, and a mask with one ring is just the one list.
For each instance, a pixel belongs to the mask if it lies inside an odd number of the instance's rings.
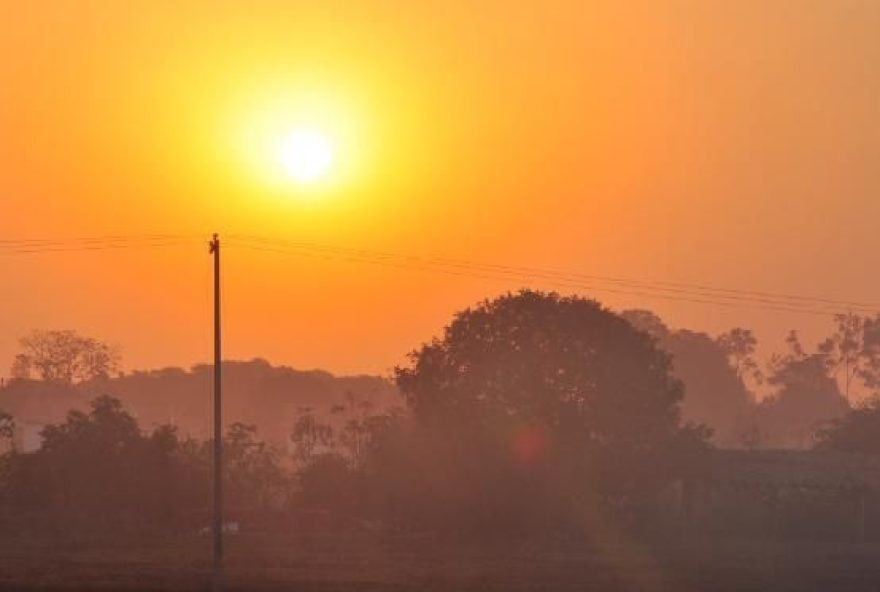
[[[0,535],[2,537],[2,535]],[[0,538],[0,590],[202,591],[203,537],[52,542]],[[426,538],[228,538],[233,591],[880,590],[880,545],[677,541],[461,544]]]

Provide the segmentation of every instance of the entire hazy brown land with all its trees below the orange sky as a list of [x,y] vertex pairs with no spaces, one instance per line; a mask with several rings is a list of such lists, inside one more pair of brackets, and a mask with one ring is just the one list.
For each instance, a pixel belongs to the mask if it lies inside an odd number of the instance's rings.
[[[747,329],[713,337],[523,290],[456,313],[388,377],[225,362],[230,581],[871,589],[878,319],[840,315],[815,348],[792,332],[762,361]],[[141,589],[122,569],[138,557],[172,570],[144,589],[201,589],[212,367],[122,372],[117,349],[70,330],[20,347],[0,389],[0,584],[62,586],[47,566],[63,561],[80,566],[71,585]],[[83,555],[116,540],[141,542]]]

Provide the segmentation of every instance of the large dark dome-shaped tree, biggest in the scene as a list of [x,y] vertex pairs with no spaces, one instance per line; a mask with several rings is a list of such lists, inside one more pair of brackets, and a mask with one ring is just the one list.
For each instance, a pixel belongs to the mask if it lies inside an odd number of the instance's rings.
[[[683,387],[653,338],[580,297],[524,290],[484,301],[395,375],[431,471],[483,491],[483,506],[511,495],[557,504],[587,490],[644,498],[705,437],[681,425]],[[524,501],[526,491],[540,495]]]

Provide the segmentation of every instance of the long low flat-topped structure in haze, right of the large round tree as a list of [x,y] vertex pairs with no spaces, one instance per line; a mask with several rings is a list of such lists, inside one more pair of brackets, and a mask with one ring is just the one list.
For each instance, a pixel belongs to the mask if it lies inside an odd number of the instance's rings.
[[880,540],[880,457],[717,450],[682,484],[687,532],[771,539]]

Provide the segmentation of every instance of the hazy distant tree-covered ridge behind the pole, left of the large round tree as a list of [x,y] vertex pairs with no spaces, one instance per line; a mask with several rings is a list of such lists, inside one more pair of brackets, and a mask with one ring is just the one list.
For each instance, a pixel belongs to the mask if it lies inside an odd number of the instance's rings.
[[[212,371],[210,365],[164,368],[76,384],[12,379],[0,389],[0,409],[16,418],[25,448],[38,445],[42,428],[63,421],[72,409],[88,410],[100,395],[119,399],[146,429],[173,425],[181,434],[206,438],[211,433]],[[380,412],[402,404],[393,384],[378,376],[337,377],[264,360],[225,362],[224,374],[230,420],[256,426],[261,436],[281,446],[300,415],[329,415],[352,404]]]

